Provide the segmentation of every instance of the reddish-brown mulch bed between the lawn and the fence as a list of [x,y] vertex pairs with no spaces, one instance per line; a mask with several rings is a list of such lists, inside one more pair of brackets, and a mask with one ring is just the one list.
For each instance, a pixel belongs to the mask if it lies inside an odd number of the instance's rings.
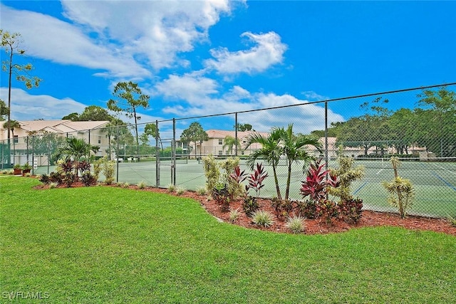
[[[38,185],[36,189],[45,189],[47,187],[48,186],[45,185]],[[59,185],[59,187],[66,186]],[[83,185],[81,183],[78,183],[73,184],[72,187],[83,187]],[[138,186],[132,185],[129,187],[129,189],[138,189]],[[156,187],[146,187],[140,191],[160,192],[177,196],[175,192],[169,192],[167,189]],[[212,216],[219,219],[219,221],[229,222],[229,211],[222,211],[222,208],[216,203],[216,201],[209,199],[209,196],[199,195],[196,192],[192,191],[186,191],[181,196],[199,201],[202,207],[206,209],[209,214],[212,214]],[[265,231],[274,231],[280,233],[290,232],[289,229],[286,229],[285,226],[286,219],[280,217],[276,218],[274,224],[268,228],[254,225],[252,223],[252,219],[246,216],[242,210],[242,200],[232,201],[229,206],[231,209],[239,210],[239,217],[232,224],[243,226],[249,229],[261,229]],[[272,214],[274,214],[274,209],[271,207],[270,199],[259,199],[259,206],[260,209],[270,211]],[[306,219],[304,234],[331,234],[348,231],[349,229],[375,226],[398,226],[405,229],[418,231],[435,231],[456,236],[456,227],[452,226],[450,221],[447,219],[433,219],[423,216],[407,216],[405,219],[401,219],[398,214],[368,210],[363,210],[361,219],[357,224],[348,224],[344,221],[335,219],[331,225],[328,225],[321,219]]]

